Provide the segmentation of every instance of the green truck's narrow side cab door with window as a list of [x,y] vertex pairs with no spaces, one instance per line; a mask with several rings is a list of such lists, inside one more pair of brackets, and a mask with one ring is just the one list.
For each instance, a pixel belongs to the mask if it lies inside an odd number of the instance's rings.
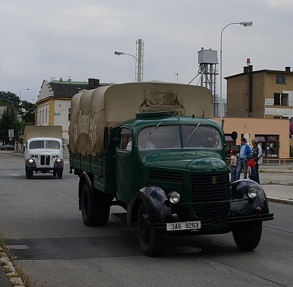
[[128,127],[121,127],[116,147],[117,199],[128,203],[133,196],[134,152],[133,133]]

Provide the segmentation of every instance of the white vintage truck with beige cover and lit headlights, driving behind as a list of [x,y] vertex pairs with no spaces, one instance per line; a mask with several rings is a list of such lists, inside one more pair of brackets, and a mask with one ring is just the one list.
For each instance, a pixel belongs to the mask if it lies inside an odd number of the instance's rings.
[[62,126],[27,125],[24,130],[25,174],[53,173],[62,178],[63,142]]

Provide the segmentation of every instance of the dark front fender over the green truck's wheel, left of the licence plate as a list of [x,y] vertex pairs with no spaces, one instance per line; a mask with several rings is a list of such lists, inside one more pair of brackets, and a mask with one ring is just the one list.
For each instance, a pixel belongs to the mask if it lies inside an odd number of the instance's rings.
[[149,208],[149,217],[153,224],[170,222],[172,212],[171,208],[165,205],[165,201],[168,201],[168,198],[161,187],[143,187],[133,196],[128,205],[127,224],[137,221],[137,211],[142,202]]

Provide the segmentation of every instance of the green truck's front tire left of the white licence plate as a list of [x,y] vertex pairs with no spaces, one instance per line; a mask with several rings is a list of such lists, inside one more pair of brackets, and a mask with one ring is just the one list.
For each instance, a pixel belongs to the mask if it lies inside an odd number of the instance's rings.
[[140,203],[137,212],[137,235],[140,248],[145,255],[154,257],[160,254],[163,245],[164,232],[155,228],[149,218],[150,211],[144,202]]

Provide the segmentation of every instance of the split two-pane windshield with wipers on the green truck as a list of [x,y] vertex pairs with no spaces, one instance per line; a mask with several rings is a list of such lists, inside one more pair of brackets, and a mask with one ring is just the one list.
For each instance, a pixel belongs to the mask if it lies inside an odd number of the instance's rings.
[[140,150],[161,148],[222,148],[220,135],[206,125],[160,125],[145,127],[138,136]]

